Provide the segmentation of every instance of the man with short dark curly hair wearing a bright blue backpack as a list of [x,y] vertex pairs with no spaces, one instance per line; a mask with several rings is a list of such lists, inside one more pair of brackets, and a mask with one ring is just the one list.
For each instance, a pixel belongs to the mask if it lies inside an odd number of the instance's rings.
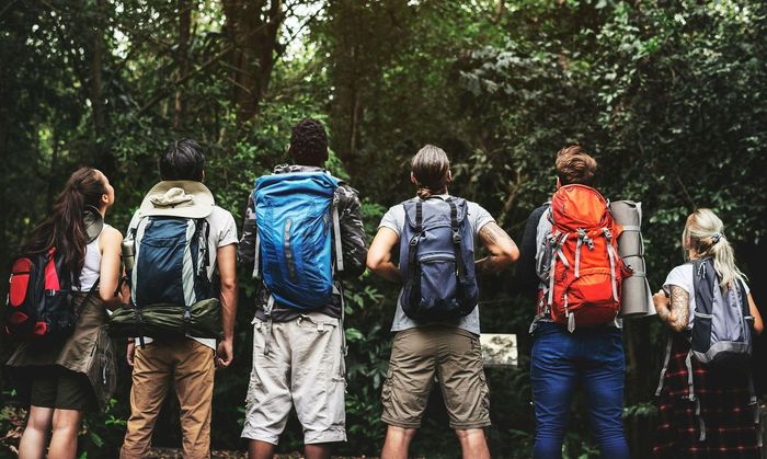
[[[288,153],[294,164],[256,181],[239,246],[261,287],[242,437],[250,439],[250,458],[272,458],[295,405],[306,457],[329,458],[331,444],[346,440],[340,280],[363,274],[367,246],[357,192],[323,169],[322,124],[306,118],[294,126]],[[331,191],[322,195],[323,188]],[[305,217],[316,209],[317,218]],[[325,244],[324,255],[311,254],[316,240]],[[323,274],[332,280],[328,299],[318,300],[310,284]]]

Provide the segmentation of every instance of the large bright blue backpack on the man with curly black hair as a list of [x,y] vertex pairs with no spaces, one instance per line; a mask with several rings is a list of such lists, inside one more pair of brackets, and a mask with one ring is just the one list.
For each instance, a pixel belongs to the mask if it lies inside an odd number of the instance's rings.
[[253,275],[272,296],[267,313],[274,301],[301,310],[332,302],[334,269],[343,271],[341,238],[333,238],[340,233],[334,199],[339,183],[327,172],[272,174],[255,181]]

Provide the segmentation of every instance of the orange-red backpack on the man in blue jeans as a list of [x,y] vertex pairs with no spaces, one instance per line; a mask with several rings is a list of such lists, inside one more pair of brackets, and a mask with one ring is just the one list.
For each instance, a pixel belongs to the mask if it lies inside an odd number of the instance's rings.
[[622,228],[596,190],[565,185],[551,197],[549,285],[539,292],[543,313],[569,331],[600,325],[620,310],[620,287],[629,268],[618,255]]

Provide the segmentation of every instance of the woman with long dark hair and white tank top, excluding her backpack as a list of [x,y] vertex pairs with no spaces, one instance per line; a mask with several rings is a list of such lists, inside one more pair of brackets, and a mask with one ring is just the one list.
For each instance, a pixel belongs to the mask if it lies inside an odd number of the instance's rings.
[[[115,358],[106,335],[106,308],[116,308],[123,236],[102,225],[114,188],[100,171],[77,170],[50,215],[20,254],[56,248],[71,275],[72,306],[80,311],[62,342],[25,342],[8,362],[19,394],[30,404],[19,457],[73,458],[83,412],[104,409],[115,386]],[[50,439],[48,444],[48,438]]]

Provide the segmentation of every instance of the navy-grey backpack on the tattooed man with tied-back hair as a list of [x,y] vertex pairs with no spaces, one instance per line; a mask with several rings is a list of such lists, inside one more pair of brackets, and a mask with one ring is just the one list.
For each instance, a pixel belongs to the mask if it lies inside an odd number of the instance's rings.
[[414,320],[444,321],[468,315],[479,299],[474,237],[465,199],[435,197],[402,203],[400,238],[402,310]]

